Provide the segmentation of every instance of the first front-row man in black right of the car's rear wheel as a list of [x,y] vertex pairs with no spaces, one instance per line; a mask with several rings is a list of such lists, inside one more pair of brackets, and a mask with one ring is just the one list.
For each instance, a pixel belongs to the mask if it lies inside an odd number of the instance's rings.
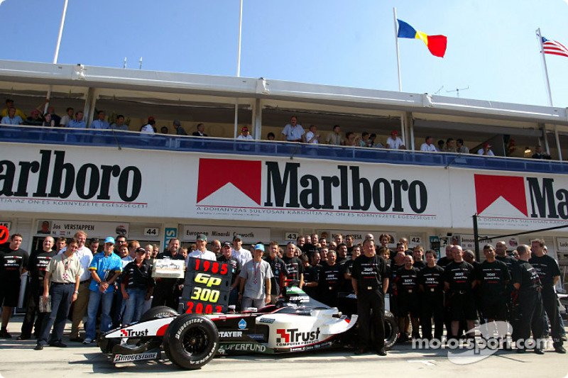
[[[413,338],[420,338],[418,328],[418,269],[413,267],[412,255],[404,257],[404,266],[396,274],[396,291],[398,299],[398,328],[405,330],[406,318],[410,315],[413,325]],[[400,335],[401,342],[408,340],[408,333]]]

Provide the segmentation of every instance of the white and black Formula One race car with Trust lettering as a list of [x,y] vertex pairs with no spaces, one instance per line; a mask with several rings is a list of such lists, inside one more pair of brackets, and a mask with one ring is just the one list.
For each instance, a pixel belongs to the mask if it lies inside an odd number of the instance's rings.
[[[214,355],[288,353],[356,345],[357,316],[321,304],[297,287],[285,288],[278,304],[244,313],[178,315],[155,307],[138,323],[111,330],[99,348],[114,363],[159,360],[161,350],[184,369],[206,365]],[[398,336],[393,314],[385,313],[385,346]]]

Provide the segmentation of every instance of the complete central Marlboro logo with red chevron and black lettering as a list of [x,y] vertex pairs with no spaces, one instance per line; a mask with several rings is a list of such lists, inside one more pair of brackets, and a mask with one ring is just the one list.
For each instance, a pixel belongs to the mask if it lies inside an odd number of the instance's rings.
[[[381,177],[380,169],[364,175],[358,166],[337,165],[324,173],[302,168],[299,162],[261,162],[202,158],[197,205],[228,206],[244,194],[258,206],[331,211],[380,211],[422,214],[428,191],[418,179]],[[226,189],[229,187],[230,189]]]

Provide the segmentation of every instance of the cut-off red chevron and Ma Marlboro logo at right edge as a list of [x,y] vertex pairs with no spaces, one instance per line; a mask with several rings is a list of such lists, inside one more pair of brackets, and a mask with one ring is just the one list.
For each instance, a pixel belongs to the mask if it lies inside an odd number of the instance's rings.
[[503,198],[528,218],[568,219],[568,190],[554,179],[475,174],[474,182],[480,215]]

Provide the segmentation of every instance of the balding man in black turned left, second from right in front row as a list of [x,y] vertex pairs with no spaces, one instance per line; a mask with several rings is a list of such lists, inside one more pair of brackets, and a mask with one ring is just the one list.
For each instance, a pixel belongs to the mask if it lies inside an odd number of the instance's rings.
[[518,302],[520,306],[520,321],[513,328],[513,340],[517,346],[517,352],[525,352],[525,342],[529,340],[532,331],[532,338],[537,341],[535,352],[542,355],[542,333],[545,327],[544,311],[542,308],[542,296],[540,295],[540,279],[538,273],[530,265],[530,247],[519,245],[518,263],[513,268],[513,287],[518,290]]

